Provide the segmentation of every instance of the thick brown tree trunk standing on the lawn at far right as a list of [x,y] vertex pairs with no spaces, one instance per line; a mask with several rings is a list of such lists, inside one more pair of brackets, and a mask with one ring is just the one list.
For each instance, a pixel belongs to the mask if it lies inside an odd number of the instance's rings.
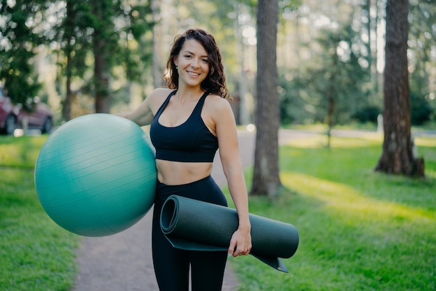
[[388,0],[386,6],[386,47],[384,68],[383,152],[375,171],[424,176],[423,158],[412,152],[410,134],[410,92],[407,70],[409,3]]

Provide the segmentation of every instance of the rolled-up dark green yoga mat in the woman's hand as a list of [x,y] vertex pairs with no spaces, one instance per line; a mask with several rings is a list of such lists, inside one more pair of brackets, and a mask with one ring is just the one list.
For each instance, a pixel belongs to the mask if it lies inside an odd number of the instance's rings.
[[[274,269],[288,273],[279,258],[290,258],[297,251],[297,228],[289,223],[249,214],[251,255]],[[226,251],[238,228],[233,208],[177,195],[166,199],[160,226],[166,238],[178,249]]]

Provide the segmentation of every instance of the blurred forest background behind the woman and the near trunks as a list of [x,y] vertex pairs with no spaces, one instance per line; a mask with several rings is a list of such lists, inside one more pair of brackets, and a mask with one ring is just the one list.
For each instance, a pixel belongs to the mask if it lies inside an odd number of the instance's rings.
[[[38,95],[54,109],[58,124],[85,113],[136,107],[162,86],[173,38],[193,27],[210,31],[221,48],[238,123],[254,122],[256,42],[261,41],[256,1],[8,0],[0,5],[0,86],[8,86],[15,102]],[[279,1],[281,125],[328,118],[335,124],[376,123],[383,100],[385,6],[385,0]],[[412,125],[435,123],[435,14],[434,1],[410,1]],[[98,88],[96,78],[107,86]]]

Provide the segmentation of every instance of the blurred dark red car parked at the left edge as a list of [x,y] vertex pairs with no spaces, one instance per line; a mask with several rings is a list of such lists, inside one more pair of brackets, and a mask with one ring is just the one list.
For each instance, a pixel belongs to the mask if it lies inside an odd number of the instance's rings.
[[22,128],[26,121],[29,129],[40,129],[42,133],[50,132],[53,127],[52,109],[39,97],[34,97],[24,105],[13,104],[10,98],[0,91],[0,132],[13,134],[15,129]]

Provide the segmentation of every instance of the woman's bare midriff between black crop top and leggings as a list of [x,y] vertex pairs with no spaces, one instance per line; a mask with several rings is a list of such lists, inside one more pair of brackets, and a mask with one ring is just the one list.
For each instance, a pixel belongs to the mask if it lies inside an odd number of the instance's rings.
[[156,159],[157,180],[167,185],[188,184],[212,173],[210,162],[173,162]]

